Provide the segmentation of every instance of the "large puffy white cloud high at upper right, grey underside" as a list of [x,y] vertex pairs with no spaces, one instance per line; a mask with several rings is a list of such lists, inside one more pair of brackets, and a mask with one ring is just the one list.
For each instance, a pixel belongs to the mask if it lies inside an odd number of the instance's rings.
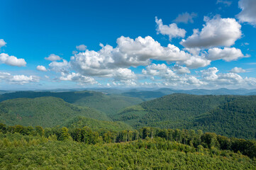
[[180,44],[188,48],[229,47],[241,38],[241,25],[234,18],[215,16],[209,19],[204,17],[204,21],[206,24],[201,32],[194,29],[193,35],[189,36],[187,40],[182,40]]

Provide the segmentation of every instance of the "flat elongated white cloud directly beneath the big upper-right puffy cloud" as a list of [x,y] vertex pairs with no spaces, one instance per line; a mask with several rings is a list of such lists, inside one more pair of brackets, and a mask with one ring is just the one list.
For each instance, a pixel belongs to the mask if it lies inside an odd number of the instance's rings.
[[207,55],[208,60],[225,60],[226,62],[243,57],[250,57],[250,55],[243,55],[241,50],[235,47],[224,47],[223,49],[214,47],[208,50]]

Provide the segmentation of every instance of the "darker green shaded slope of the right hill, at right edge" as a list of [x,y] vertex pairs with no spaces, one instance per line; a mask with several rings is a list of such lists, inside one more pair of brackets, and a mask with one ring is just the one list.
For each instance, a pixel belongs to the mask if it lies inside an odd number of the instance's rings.
[[224,103],[212,111],[196,117],[194,126],[221,135],[256,139],[256,96],[248,96]]

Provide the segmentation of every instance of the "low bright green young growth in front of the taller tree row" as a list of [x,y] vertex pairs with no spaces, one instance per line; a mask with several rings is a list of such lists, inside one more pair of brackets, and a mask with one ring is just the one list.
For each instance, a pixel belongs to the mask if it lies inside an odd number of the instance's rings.
[[0,169],[255,169],[243,154],[162,138],[105,145],[0,134]]

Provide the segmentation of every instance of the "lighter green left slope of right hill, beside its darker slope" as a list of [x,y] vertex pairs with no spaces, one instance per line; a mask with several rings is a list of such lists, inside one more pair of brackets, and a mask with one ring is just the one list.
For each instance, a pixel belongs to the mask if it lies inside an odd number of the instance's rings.
[[229,100],[231,100],[230,96],[172,94],[152,101],[145,101],[138,106],[128,107],[114,115],[113,119],[132,123],[133,126],[139,127],[166,120],[189,120],[196,115],[211,111]]

